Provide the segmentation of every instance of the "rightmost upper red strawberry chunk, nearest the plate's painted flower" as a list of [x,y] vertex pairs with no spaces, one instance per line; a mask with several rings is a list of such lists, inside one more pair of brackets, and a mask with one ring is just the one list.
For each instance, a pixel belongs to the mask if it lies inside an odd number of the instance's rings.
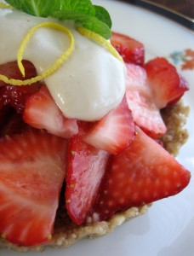
[[176,68],[164,58],[155,58],[145,64],[145,71],[153,91],[157,108],[165,108],[177,102],[188,84],[176,71]]

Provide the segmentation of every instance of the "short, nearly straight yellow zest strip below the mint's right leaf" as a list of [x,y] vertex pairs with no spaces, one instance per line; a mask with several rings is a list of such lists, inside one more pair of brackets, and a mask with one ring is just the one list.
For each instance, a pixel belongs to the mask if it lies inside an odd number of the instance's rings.
[[100,43],[103,47],[105,47],[108,51],[110,51],[111,54],[114,55],[119,61],[123,62],[122,56],[119,55],[117,50],[105,38],[101,37],[99,34],[95,32],[92,32],[84,28],[83,26],[78,26],[77,31],[83,36]]

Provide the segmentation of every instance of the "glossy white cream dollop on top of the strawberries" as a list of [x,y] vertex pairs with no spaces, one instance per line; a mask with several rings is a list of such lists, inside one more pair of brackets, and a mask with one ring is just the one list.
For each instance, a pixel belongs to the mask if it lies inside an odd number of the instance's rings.
[[[26,33],[32,26],[47,21],[67,26],[75,39],[75,49],[68,60],[45,79],[54,101],[68,118],[101,119],[123,99],[125,66],[100,44],[77,32],[71,22],[0,9],[0,64],[16,60]],[[66,34],[41,28],[27,44],[23,59],[31,61],[40,74],[69,45]]]

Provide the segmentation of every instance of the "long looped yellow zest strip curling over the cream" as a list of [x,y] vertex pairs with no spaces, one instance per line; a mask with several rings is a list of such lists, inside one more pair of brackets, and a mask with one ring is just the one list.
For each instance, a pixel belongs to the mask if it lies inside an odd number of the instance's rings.
[[38,24],[37,26],[33,26],[31,30],[27,32],[26,37],[23,39],[20,45],[20,49],[18,51],[18,66],[23,76],[25,76],[25,70],[24,70],[24,66],[22,65],[22,55],[26,48],[26,44],[31,39],[31,36],[33,35],[33,33],[37,31],[37,29],[42,27],[49,27],[61,32],[65,32],[70,38],[70,42],[71,42],[70,47],[66,50],[66,52],[63,55],[60,56],[59,59],[57,59],[54,62],[53,66],[49,67],[46,71],[44,71],[42,74],[38,75],[37,77],[26,79],[26,80],[20,80],[20,79],[9,79],[6,76],[0,74],[0,80],[2,80],[4,83],[12,84],[12,85],[28,85],[28,84],[37,83],[38,81],[43,80],[47,78],[49,75],[51,75],[52,73],[54,73],[71,55],[74,49],[74,38],[71,31],[66,26],[62,26],[54,22],[45,22],[45,23]]

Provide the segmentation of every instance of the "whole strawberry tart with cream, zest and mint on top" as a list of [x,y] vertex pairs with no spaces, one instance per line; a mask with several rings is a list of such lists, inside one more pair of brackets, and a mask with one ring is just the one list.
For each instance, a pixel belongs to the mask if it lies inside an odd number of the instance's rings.
[[0,246],[21,251],[103,236],[191,178],[175,67],[90,1],[43,2],[0,9]]

